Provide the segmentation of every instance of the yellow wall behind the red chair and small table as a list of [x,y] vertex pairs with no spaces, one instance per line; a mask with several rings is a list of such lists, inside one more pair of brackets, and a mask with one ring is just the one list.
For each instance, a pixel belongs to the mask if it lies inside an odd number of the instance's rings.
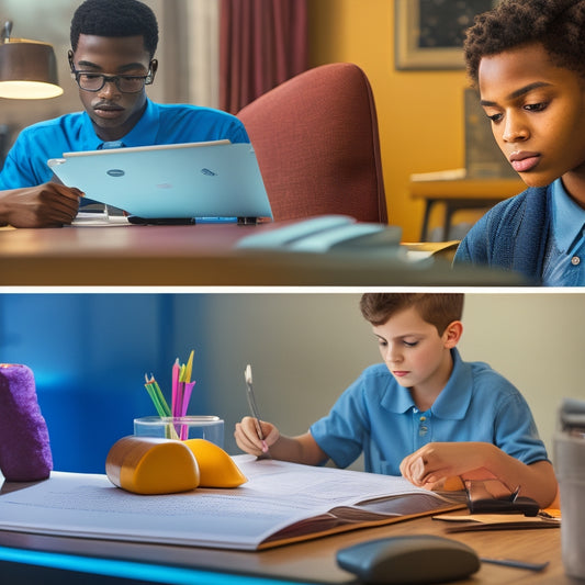
[[423,203],[408,177],[464,166],[464,71],[394,68],[394,0],[310,0],[311,65],[351,61],[374,92],[390,223],[416,240]]

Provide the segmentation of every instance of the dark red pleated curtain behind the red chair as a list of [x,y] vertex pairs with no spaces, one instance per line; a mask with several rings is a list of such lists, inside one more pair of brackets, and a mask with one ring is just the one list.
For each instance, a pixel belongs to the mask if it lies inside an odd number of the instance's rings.
[[220,108],[246,104],[307,68],[307,0],[222,0]]

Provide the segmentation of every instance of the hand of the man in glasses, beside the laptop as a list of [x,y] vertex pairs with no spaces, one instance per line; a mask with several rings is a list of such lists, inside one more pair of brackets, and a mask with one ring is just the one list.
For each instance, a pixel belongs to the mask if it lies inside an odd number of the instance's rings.
[[0,224],[13,227],[57,227],[70,224],[83,193],[48,182],[38,187],[0,191]]

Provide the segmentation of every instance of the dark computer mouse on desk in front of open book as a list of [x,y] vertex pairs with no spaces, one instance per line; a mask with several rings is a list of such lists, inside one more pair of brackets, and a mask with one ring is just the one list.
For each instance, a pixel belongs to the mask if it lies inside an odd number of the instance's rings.
[[337,551],[341,569],[363,583],[443,583],[475,573],[475,551],[449,538],[412,535],[360,542]]

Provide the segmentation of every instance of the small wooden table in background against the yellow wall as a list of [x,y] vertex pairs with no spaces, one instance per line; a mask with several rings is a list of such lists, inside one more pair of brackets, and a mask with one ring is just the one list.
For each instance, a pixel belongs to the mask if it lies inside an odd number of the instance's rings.
[[430,212],[437,203],[445,205],[442,239],[449,239],[453,214],[457,211],[492,207],[525,189],[526,184],[519,178],[410,181],[410,196],[425,201],[420,241],[428,239]]

